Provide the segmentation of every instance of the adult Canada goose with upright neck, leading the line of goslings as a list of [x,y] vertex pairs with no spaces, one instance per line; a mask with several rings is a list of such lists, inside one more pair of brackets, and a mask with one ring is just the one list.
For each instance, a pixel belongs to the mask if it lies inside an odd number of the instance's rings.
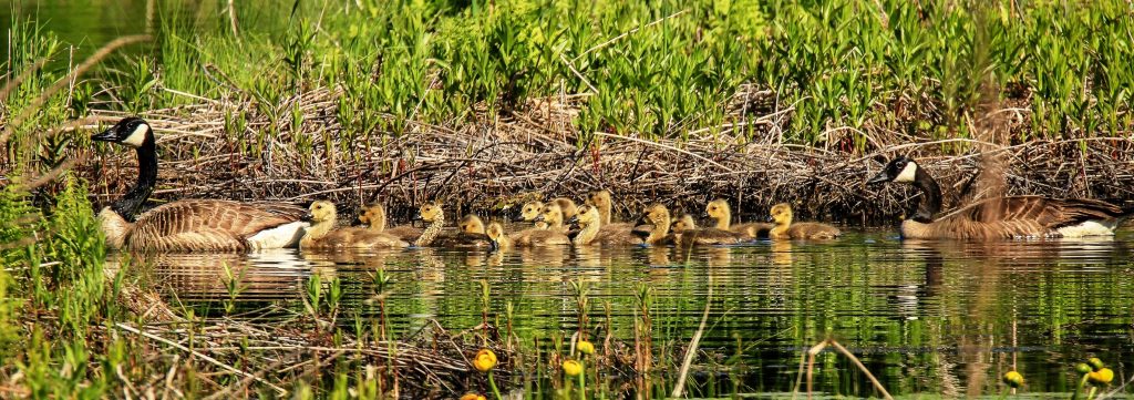
[[306,210],[290,204],[184,199],[135,215],[153,193],[158,154],[153,129],[128,117],[93,141],[134,147],[138,178],[125,196],[99,212],[107,246],[151,252],[236,252],[295,247],[308,224]]

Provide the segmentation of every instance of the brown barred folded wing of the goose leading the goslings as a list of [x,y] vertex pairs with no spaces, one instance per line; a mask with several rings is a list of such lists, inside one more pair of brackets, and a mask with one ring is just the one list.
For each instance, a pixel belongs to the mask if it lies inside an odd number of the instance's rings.
[[138,216],[132,248],[152,250],[242,250],[245,238],[295,222],[303,208],[263,207],[253,203],[187,199],[158,206]]

